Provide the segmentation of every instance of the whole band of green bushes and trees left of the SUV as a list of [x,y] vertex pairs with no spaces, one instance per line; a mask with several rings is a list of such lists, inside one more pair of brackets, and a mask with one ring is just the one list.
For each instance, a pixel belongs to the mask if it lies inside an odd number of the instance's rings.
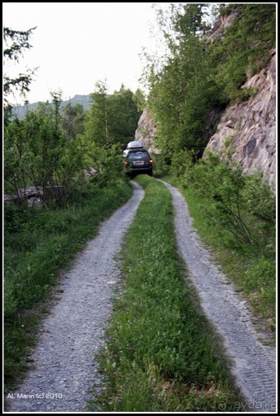
[[[52,103],[41,103],[23,120],[5,128],[5,192],[35,186],[45,206],[46,190],[62,190],[56,204],[65,204],[69,193],[85,180],[105,185],[122,175],[120,146],[132,140],[140,112],[129,89],[107,94],[98,83],[88,111],[71,103],[61,109],[61,91],[52,93]],[[56,194],[56,193],[52,193]]]

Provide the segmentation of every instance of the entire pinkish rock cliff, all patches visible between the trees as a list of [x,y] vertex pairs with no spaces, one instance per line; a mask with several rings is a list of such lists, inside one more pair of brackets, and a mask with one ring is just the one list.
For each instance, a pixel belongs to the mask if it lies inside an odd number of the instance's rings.
[[[206,43],[222,39],[238,12],[220,17],[213,30],[206,37]],[[272,187],[276,183],[276,51],[270,52],[268,66],[252,76],[242,88],[255,91],[247,101],[226,108],[219,118],[215,134],[209,138],[206,151],[216,151],[222,155],[225,145],[233,160],[243,168],[244,173],[263,173]],[[211,131],[219,117],[216,109],[209,114]],[[211,121],[212,120],[212,121]],[[209,131],[208,129],[208,131]],[[138,122],[136,140],[142,141],[150,151],[153,147],[155,125],[148,111],[144,110]],[[211,133],[210,133],[211,134]],[[204,151],[204,156],[206,155]]]

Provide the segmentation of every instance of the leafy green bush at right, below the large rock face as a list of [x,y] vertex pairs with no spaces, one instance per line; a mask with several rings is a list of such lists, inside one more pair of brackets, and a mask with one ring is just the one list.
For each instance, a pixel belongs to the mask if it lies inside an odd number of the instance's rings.
[[213,153],[195,165],[185,162],[180,173],[183,186],[206,200],[206,221],[226,228],[241,244],[262,247],[264,237],[274,241],[275,197],[261,175],[244,175]]

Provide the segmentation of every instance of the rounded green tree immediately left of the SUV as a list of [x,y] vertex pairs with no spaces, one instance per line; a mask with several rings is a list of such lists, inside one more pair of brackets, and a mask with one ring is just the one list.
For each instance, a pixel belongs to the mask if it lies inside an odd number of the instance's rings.
[[99,81],[91,100],[83,133],[87,170],[94,168],[93,180],[104,184],[122,173],[119,145],[133,139],[140,112],[133,93],[124,85],[120,91],[108,94],[106,83]]

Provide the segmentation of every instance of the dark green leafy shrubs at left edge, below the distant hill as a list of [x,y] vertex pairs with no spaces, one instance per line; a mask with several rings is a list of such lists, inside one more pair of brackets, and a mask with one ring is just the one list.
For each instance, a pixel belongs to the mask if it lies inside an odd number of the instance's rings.
[[[52,105],[41,105],[23,120],[12,120],[4,131],[4,185],[8,194],[35,186],[43,204],[46,189],[71,188],[83,168],[83,147],[79,140],[67,140],[61,128],[61,95],[52,94]],[[61,188],[62,189],[62,188]],[[66,193],[56,203],[65,201]]]

